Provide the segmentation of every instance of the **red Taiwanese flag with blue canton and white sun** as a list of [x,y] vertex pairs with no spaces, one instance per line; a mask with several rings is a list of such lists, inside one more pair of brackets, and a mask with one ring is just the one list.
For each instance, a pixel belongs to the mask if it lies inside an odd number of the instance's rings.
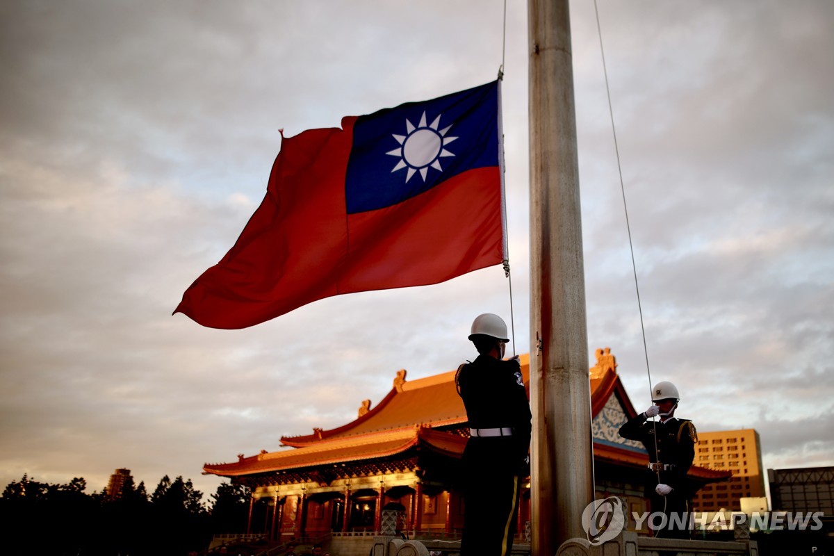
[[285,138],[263,203],[174,313],[245,328],[505,258],[499,82]]

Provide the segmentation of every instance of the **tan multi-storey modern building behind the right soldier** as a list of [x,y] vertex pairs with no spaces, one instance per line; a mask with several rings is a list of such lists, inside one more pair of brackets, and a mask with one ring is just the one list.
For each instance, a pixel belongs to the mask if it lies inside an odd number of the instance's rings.
[[741,511],[741,498],[765,496],[761,441],[753,428],[717,432],[699,430],[694,463],[732,473],[726,483],[706,484],[696,493],[692,500],[696,511]]

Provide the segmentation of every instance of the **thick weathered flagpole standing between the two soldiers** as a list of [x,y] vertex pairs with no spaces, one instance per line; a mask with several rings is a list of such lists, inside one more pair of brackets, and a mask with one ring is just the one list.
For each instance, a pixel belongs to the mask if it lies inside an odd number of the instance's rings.
[[585,538],[593,500],[585,273],[568,0],[529,0],[533,556]]

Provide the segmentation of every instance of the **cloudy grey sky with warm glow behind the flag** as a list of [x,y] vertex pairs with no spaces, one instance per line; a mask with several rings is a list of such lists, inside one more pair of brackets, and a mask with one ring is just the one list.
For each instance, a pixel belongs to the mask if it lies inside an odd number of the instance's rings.
[[[600,0],[651,378],[770,468],[834,465],[834,3]],[[171,316],[288,136],[495,78],[500,0],[0,4],[0,487],[115,468],[153,488],[332,428],[509,320],[498,267],[244,330]],[[594,5],[573,3],[589,358],[649,379]],[[515,343],[529,351],[526,4],[504,124]]]

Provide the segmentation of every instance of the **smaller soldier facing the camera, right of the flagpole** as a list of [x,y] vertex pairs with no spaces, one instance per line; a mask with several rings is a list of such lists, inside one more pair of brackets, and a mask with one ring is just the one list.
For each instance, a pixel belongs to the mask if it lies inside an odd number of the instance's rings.
[[[646,470],[646,498],[651,501],[651,511],[666,514],[666,522],[656,519],[661,526],[656,537],[690,538],[690,507],[694,492],[686,478],[686,472],[695,458],[698,433],[689,419],[675,417],[680,396],[670,382],[661,382],[652,390],[653,404],[645,412],[630,419],[620,427],[620,436],[639,440],[649,453]],[[649,418],[661,416],[658,422]],[[650,519],[650,523],[651,519]]]

